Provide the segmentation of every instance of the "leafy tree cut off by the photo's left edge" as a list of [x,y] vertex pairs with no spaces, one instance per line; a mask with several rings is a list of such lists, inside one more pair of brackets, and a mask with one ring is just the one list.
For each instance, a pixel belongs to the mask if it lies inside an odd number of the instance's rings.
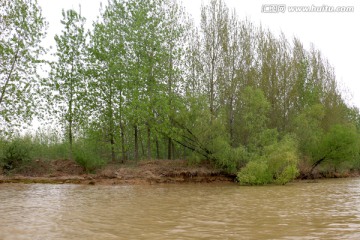
[[[0,2],[0,123],[28,121],[36,112],[46,22],[36,0]],[[39,110],[39,109],[38,109]]]

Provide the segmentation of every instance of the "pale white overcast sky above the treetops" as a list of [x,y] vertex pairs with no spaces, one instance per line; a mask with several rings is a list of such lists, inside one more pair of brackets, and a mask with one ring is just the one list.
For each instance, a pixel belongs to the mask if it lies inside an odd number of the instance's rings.
[[[62,30],[61,10],[79,9],[87,19],[87,27],[99,15],[100,2],[107,0],[38,0],[49,22],[46,44],[55,46],[55,34]],[[180,0],[195,21],[200,19],[201,4],[210,0]],[[360,108],[360,1],[358,0],[224,0],[235,9],[240,19],[248,18],[255,26],[267,27],[275,35],[281,32],[291,40],[297,37],[306,49],[314,44],[335,68],[339,87],[348,104]],[[271,3],[271,4],[270,4]],[[331,7],[350,6],[353,12],[291,12],[294,6],[310,7],[314,11]],[[317,8],[322,7],[322,8]],[[277,12],[276,11],[281,11]]]

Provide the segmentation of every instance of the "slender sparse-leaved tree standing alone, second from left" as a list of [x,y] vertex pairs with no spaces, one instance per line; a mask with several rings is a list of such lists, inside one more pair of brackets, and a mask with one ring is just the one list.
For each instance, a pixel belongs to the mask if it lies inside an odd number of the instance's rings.
[[54,113],[63,121],[70,145],[70,154],[75,130],[82,124],[85,113],[85,18],[75,10],[62,10],[61,35],[55,35],[56,62],[52,65],[50,86],[53,90]]

